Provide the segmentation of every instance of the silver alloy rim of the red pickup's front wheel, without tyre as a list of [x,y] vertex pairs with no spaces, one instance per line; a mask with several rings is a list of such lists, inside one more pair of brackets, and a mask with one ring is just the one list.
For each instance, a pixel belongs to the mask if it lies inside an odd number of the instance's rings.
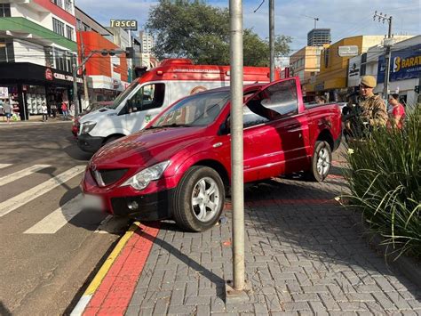
[[193,214],[201,222],[209,222],[217,213],[220,203],[218,183],[212,178],[202,178],[192,193]]

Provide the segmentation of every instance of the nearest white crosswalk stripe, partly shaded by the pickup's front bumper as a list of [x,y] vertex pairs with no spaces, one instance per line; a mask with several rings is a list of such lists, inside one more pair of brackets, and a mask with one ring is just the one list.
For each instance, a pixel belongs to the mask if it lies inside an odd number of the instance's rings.
[[24,234],[54,234],[66,225],[70,220],[82,212],[83,195],[78,194],[70,199],[65,205],[57,208],[52,214],[44,217],[43,220],[29,228]]

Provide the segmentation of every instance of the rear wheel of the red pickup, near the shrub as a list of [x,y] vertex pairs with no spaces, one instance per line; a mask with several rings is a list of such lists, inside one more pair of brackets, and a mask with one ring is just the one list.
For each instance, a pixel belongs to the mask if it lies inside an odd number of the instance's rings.
[[322,182],[330,172],[332,162],[332,150],[328,142],[317,141],[314,145],[314,155],[312,158],[312,169],[309,173],[311,180]]

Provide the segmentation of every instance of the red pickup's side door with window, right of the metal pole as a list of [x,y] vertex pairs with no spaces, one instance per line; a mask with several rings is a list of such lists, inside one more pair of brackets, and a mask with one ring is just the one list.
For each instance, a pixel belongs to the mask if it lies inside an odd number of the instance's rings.
[[298,104],[296,79],[266,85],[246,102],[244,139],[251,138],[254,143],[251,165],[258,170],[258,178],[306,168],[308,126]]

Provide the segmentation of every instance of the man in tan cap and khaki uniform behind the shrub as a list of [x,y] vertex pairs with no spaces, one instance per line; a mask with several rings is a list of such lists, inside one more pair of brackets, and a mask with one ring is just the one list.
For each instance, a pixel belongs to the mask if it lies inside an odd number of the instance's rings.
[[361,78],[360,98],[356,105],[349,104],[348,114],[343,116],[346,132],[353,138],[368,136],[373,128],[385,126],[387,110],[385,101],[374,95],[376,78],[364,76]]

